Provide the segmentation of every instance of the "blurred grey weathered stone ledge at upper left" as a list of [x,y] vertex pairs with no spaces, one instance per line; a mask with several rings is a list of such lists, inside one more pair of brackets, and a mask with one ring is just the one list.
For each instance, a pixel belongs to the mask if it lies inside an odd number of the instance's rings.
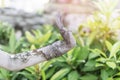
[[13,8],[0,8],[0,21],[8,22],[13,27],[22,30],[38,28],[43,24],[53,24],[51,19],[51,17],[37,13],[27,13]]

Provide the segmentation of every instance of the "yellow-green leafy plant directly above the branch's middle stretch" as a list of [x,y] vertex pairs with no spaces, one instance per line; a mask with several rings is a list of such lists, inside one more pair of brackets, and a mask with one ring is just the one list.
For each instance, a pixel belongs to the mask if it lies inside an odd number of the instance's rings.
[[37,48],[50,44],[60,38],[60,35],[53,31],[54,29],[51,26],[46,25],[43,29],[32,30],[32,33],[26,31],[25,33],[28,42],[34,44]]

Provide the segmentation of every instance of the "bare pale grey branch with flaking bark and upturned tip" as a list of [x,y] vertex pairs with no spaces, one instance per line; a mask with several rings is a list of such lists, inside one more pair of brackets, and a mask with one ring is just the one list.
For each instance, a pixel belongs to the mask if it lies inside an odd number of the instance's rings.
[[40,49],[15,55],[11,55],[0,50],[0,66],[11,71],[17,71],[40,62],[59,57],[72,49],[76,45],[72,32],[64,28],[60,16],[57,16],[56,23],[64,40],[54,42],[53,44]]

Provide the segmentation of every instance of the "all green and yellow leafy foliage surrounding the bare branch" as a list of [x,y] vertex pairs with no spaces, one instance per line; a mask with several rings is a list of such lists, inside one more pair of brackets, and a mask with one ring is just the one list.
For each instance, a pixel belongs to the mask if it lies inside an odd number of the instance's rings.
[[[106,1],[109,1],[106,2]],[[0,69],[3,80],[119,80],[120,15],[114,10],[116,0],[98,0],[95,12],[74,34],[77,46],[63,56],[18,72]],[[117,14],[117,16],[115,16]],[[13,28],[0,24],[0,48],[11,53],[33,50],[61,40],[50,25],[26,31],[20,40]],[[7,25],[9,26],[9,25]]]

